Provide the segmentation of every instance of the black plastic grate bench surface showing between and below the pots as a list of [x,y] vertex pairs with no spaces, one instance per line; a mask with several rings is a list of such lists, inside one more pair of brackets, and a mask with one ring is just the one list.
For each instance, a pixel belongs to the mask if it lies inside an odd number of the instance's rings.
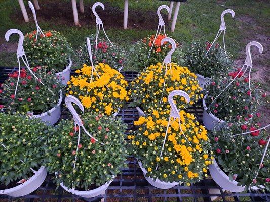
[[[5,75],[15,71],[14,68],[0,67],[0,83],[7,78]],[[132,81],[137,72],[122,72],[128,82]],[[201,122],[203,107],[200,100],[194,106],[186,110],[195,114],[198,121]],[[121,117],[124,123],[128,124],[129,130],[134,130],[134,120],[138,119],[138,112],[135,108],[126,107],[121,109],[118,117]],[[71,118],[68,110],[62,106],[60,119]],[[126,161],[127,168],[122,169],[122,174],[113,180],[104,195],[95,198],[82,198],[64,191],[61,187],[56,189],[51,176],[47,176],[45,182],[36,191],[20,198],[13,198],[7,195],[0,195],[0,201],[211,201],[211,197],[217,196],[216,201],[270,201],[270,193],[252,192],[252,193],[230,193],[223,192],[222,189],[212,180],[204,179],[200,183],[190,187],[177,185],[171,189],[162,190],[153,187],[145,180],[137,161],[129,157]],[[219,190],[218,194],[210,194],[210,189]]]

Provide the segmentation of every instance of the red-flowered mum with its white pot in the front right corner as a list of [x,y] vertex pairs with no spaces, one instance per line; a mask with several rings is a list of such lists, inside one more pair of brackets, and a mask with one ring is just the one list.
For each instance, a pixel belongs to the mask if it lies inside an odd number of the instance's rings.
[[228,191],[242,192],[250,188],[269,191],[269,151],[261,163],[269,133],[256,131],[261,128],[257,117],[243,122],[241,116],[239,121],[212,132],[210,138],[215,160],[209,166],[210,174],[221,188]]

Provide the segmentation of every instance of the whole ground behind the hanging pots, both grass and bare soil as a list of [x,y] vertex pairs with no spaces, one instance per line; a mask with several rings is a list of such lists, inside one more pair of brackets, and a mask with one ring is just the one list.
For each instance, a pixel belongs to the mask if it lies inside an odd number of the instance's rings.
[[[33,18],[25,5],[30,17],[30,22],[23,21],[18,1],[0,1],[0,66],[14,66],[16,61],[16,38],[6,42],[4,35],[8,29],[17,28],[23,33],[35,29]],[[74,49],[89,34],[95,33],[95,18],[91,11],[93,0],[85,0],[85,13],[79,12],[80,26],[74,26],[72,7],[68,0],[40,0],[41,9],[37,11],[37,19],[44,30],[54,29],[63,33]],[[131,0],[129,1],[128,29],[123,27],[123,0],[103,0],[105,10],[97,9],[97,13],[103,20],[105,30],[110,39],[119,43],[124,48],[136,40],[156,31],[158,17],[157,8],[162,4],[169,5],[167,1],[158,0]],[[78,4],[79,7],[79,4]],[[187,46],[192,40],[212,41],[220,26],[220,14],[225,9],[233,9],[235,18],[230,14],[225,15],[226,23],[226,48],[233,54],[237,67],[242,67],[245,61],[245,46],[250,41],[258,41],[262,44],[262,54],[252,48],[253,74],[252,79],[259,81],[264,90],[269,94],[270,87],[270,2],[267,0],[188,0],[182,3],[176,24],[175,32],[170,33],[170,21],[165,20],[166,30],[182,46]],[[79,8],[78,8],[79,11]],[[163,11],[163,18],[166,13]],[[221,41],[219,41],[221,43]],[[132,70],[132,67],[129,67]],[[270,114],[266,108],[266,114]]]

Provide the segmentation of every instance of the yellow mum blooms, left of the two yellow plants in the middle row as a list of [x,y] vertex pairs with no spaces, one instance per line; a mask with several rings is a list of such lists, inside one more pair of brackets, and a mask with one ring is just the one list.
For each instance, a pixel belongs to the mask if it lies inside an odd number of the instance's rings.
[[67,82],[66,96],[78,97],[88,111],[94,109],[96,112],[111,115],[129,100],[127,81],[109,65],[99,63],[95,70],[92,70],[91,66],[84,64],[83,68],[75,72],[78,75],[71,76]]

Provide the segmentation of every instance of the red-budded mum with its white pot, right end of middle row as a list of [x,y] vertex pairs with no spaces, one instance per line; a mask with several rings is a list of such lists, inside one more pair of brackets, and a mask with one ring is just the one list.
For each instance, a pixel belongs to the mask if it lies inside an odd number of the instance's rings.
[[[212,78],[212,82],[205,86],[207,95],[203,99],[203,123],[207,129],[213,130],[218,125],[223,127],[224,121],[235,122],[239,116],[244,116],[245,121],[249,121],[255,116],[258,106],[264,104],[266,94],[259,83],[251,81],[250,90],[249,79],[241,77],[243,72],[238,75],[240,78],[232,80],[239,71],[240,69],[223,78]],[[232,84],[228,86],[230,82]]]

